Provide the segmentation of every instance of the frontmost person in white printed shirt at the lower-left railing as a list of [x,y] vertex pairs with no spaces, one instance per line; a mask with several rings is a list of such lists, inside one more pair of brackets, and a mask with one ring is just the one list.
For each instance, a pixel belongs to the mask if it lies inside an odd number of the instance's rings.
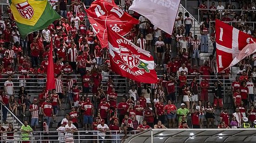
[[68,120],[68,124],[65,126],[66,134],[65,134],[65,142],[66,143],[74,143],[73,134],[75,131],[78,131],[75,125],[72,124],[72,120]]

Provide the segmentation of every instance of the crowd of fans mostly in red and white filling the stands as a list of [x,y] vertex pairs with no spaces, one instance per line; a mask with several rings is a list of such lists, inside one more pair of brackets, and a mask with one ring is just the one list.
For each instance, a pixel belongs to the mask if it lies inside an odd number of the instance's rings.
[[[214,33],[210,37],[214,47],[212,55],[203,65],[200,65],[199,59],[200,53],[208,53],[209,29],[214,30],[214,26],[209,27],[209,21],[219,19],[220,16],[223,21],[253,21],[255,12],[249,10],[255,9],[255,3],[243,4],[244,11],[232,11],[235,8],[227,4],[225,9],[230,11],[221,11],[219,9],[224,8],[222,3],[219,2],[215,8],[213,2],[209,7],[212,10],[200,11],[203,22],[199,40],[190,31],[193,20],[188,12],[184,13],[184,18],[182,12],[177,14],[173,34],[169,35],[145,17],[129,10],[131,2],[125,0],[124,11],[139,19],[140,23],[134,26],[126,38],[156,56],[156,69],[164,69],[158,83],[144,84],[129,80],[130,90],[122,96],[121,102],[117,102],[116,88],[119,85],[114,85],[112,76],[109,76],[114,73],[108,51],[101,49],[92,26],[87,28],[83,3],[73,0],[67,11],[66,0],[51,1],[63,19],[55,21],[44,30],[29,34],[26,39],[20,37],[11,11],[7,8],[10,18],[0,23],[0,78],[3,82],[5,78],[8,80],[2,85],[0,101],[16,116],[26,117],[26,111],[29,110],[34,131],[39,123],[44,123],[44,131],[47,131],[52,119],[53,124],[56,123],[56,113],[67,110],[63,103],[70,104],[71,112],[59,123],[58,131],[73,133],[75,129],[83,127],[85,131],[100,131],[102,138],[107,130],[120,131],[118,134],[123,132],[127,137],[130,131],[150,128],[203,128],[205,125],[214,128],[216,109],[221,110],[218,128],[255,127],[256,54],[238,63],[236,81],[230,81],[229,68],[216,74]],[[199,7],[207,8],[204,1]],[[226,15],[235,18],[230,20]],[[249,23],[232,25],[256,36],[255,30],[249,32],[252,26]],[[49,51],[51,39],[56,88],[49,92],[42,89],[32,103],[26,92],[26,80],[35,78],[38,79],[39,88],[45,86],[48,58],[51,58],[48,55],[52,52]],[[14,74],[18,74],[19,93],[14,91]],[[82,85],[70,76],[72,74],[81,75]],[[200,83],[199,75],[203,75]],[[232,82],[229,90],[231,106],[236,109],[234,113],[223,108],[223,80]],[[209,101],[209,93],[213,93],[212,101]],[[92,94],[91,99],[88,94]],[[2,108],[2,111],[3,121],[7,124],[7,109]]]

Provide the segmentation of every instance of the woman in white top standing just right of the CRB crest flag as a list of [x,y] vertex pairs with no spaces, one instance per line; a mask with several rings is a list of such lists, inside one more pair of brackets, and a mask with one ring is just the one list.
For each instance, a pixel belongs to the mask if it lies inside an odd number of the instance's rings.
[[158,37],[158,41],[155,43],[155,53],[157,54],[157,66],[161,66],[162,67],[162,57],[163,57],[163,53],[164,53],[164,41],[162,41],[162,37],[159,36]]

